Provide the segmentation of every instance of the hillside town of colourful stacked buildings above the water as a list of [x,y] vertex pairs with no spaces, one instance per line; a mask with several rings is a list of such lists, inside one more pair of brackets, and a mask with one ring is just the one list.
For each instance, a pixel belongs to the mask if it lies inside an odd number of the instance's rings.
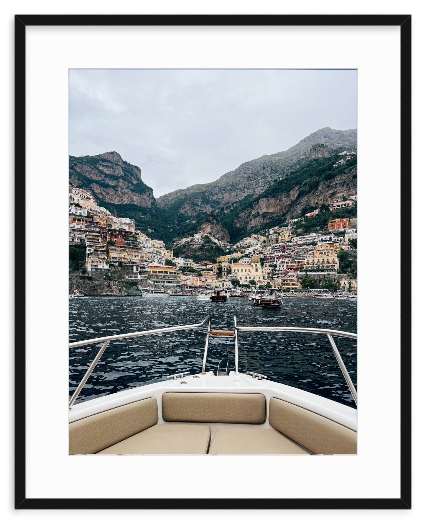
[[[346,153],[346,151],[345,151]],[[86,250],[78,268],[81,275],[109,275],[113,267],[127,268],[124,279],[133,286],[205,288],[271,288],[300,291],[315,287],[356,292],[356,218],[345,217],[345,209],[356,195],[331,202],[335,213],[327,231],[298,235],[300,223],[321,213],[316,209],[287,220],[281,226],[247,236],[236,244],[197,232],[173,244],[192,242],[217,244],[226,255],[195,262],[173,256],[173,249],[158,238],[138,231],[134,220],[116,217],[98,206],[92,194],[70,185],[69,242]],[[318,229],[318,228],[317,228]],[[343,271],[345,267],[355,268]],[[347,274],[349,272],[349,274]],[[319,286],[320,284],[317,283]]]

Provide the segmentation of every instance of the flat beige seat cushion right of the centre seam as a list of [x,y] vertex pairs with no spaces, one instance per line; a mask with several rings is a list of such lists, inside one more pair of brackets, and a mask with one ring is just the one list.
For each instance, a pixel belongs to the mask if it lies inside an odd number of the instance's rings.
[[209,455],[309,455],[274,429],[218,428]]

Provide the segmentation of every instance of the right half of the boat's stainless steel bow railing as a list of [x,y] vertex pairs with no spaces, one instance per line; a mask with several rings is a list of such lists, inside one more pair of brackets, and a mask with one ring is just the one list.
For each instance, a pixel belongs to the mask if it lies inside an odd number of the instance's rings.
[[237,317],[234,316],[234,334],[235,334],[235,371],[238,374],[238,332],[242,331],[278,331],[278,332],[297,332],[297,333],[316,333],[319,335],[327,335],[328,341],[330,343],[331,349],[333,350],[334,356],[339,364],[340,369],[342,370],[343,376],[346,380],[347,387],[349,387],[349,390],[351,391],[352,397],[355,401],[355,404],[357,403],[357,394],[355,386],[353,385],[353,382],[351,380],[351,377],[349,376],[349,373],[347,372],[346,366],[343,363],[342,357],[340,356],[340,353],[338,351],[338,348],[334,342],[333,335],[334,336],[344,336],[348,339],[355,339],[356,340],[356,334],[355,333],[348,333],[346,331],[337,331],[337,330],[331,330],[331,329],[321,329],[321,328],[285,328],[281,326],[238,326],[237,325]]

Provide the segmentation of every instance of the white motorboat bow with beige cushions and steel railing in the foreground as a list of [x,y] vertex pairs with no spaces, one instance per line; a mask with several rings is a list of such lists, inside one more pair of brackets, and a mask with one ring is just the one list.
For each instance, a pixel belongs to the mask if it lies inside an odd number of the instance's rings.
[[[108,343],[131,337],[200,329],[207,324],[200,372],[187,370],[165,380],[74,404]],[[352,455],[357,452],[356,409],[298,389],[257,372],[240,373],[238,337],[246,332],[302,332],[327,335],[347,386],[356,390],[333,336],[356,334],[316,328],[238,326],[211,329],[198,324],[173,326],[72,342],[70,347],[102,343],[69,403],[71,455]],[[234,345],[234,370],[222,359],[217,375],[206,371],[209,340]],[[120,346],[116,346],[120,347]],[[215,344],[217,351],[218,344]],[[166,349],[166,348],[164,348]],[[203,348],[200,348],[203,354]],[[187,369],[187,368],[186,368]],[[189,376],[188,376],[189,375]]]

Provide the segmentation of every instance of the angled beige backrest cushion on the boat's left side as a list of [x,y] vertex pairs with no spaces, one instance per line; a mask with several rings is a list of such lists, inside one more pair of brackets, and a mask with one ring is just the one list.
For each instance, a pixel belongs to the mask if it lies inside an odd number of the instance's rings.
[[154,397],[70,423],[70,455],[91,455],[158,422]]

